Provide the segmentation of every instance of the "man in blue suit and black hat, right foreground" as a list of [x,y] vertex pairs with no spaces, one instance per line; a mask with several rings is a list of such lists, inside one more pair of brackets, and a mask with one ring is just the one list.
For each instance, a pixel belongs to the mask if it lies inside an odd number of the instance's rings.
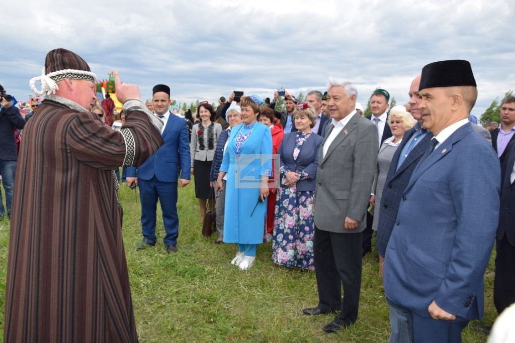
[[384,265],[389,302],[416,342],[458,342],[484,312],[483,276],[499,215],[500,166],[468,117],[477,98],[467,61],[422,69],[418,105],[434,137],[402,193]]

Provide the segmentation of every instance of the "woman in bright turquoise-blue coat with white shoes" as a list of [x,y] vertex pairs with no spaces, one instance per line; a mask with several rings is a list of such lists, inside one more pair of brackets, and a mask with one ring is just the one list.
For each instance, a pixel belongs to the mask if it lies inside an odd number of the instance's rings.
[[242,99],[243,123],[231,131],[215,189],[222,188],[222,177],[227,173],[224,243],[238,244],[231,264],[242,270],[254,263],[265,228],[272,136],[265,125],[257,122],[262,103],[255,95]]

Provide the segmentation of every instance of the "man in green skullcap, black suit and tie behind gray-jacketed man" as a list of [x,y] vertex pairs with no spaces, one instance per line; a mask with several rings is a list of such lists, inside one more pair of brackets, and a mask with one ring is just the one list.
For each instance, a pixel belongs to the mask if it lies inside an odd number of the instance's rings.
[[[379,138],[379,148],[386,138],[391,137],[390,125],[388,125],[388,101],[390,93],[382,88],[377,88],[370,96],[371,116],[365,118],[370,119],[377,127],[377,135]],[[379,205],[379,204],[378,204]],[[372,250],[372,221],[374,217],[367,211],[367,228],[363,231],[362,255]],[[378,220],[379,218],[376,218]]]

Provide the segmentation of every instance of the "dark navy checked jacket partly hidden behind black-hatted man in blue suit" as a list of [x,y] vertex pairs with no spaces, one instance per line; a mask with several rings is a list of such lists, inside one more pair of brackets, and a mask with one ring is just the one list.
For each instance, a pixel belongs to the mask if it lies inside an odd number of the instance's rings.
[[379,224],[377,225],[376,232],[376,245],[377,251],[382,257],[385,256],[386,245],[388,244],[391,231],[393,230],[397,220],[397,211],[399,210],[399,205],[401,203],[402,193],[404,193],[411,174],[413,174],[420,158],[428,149],[429,141],[433,137],[433,134],[428,132],[422,138],[422,141],[418,142],[418,144],[409,152],[408,156],[399,167],[399,170],[396,171],[401,151],[404,146],[406,146],[409,138],[414,134],[415,128],[411,128],[404,133],[402,142],[399,145],[399,148],[397,148],[397,151],[393,154],[390,169],[388,169],[383,195],[381,196],[381,204],[376,204],[376,206],[381,206]]

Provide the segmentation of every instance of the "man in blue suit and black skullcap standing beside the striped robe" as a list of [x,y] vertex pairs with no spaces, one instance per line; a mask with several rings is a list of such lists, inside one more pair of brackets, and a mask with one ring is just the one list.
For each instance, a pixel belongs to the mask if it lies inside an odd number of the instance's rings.
[[179,217],[177,215],[177,180],[179,168],[181,176],[179,186],[190,183],[190,144],[188,130],[184,119],[171,114],[170,87],[158,84],[152,89],[154,113],[163,120],[161,135],[164,144],[136,169],[127,168],[127,185],[133,182],[140,186],[141,225],[143,241],[136,250],[156,245],[156,210],[158,199],[163,211],[163,223],[166,231],[164,244],[166,252],[177,252],[179,236]]

